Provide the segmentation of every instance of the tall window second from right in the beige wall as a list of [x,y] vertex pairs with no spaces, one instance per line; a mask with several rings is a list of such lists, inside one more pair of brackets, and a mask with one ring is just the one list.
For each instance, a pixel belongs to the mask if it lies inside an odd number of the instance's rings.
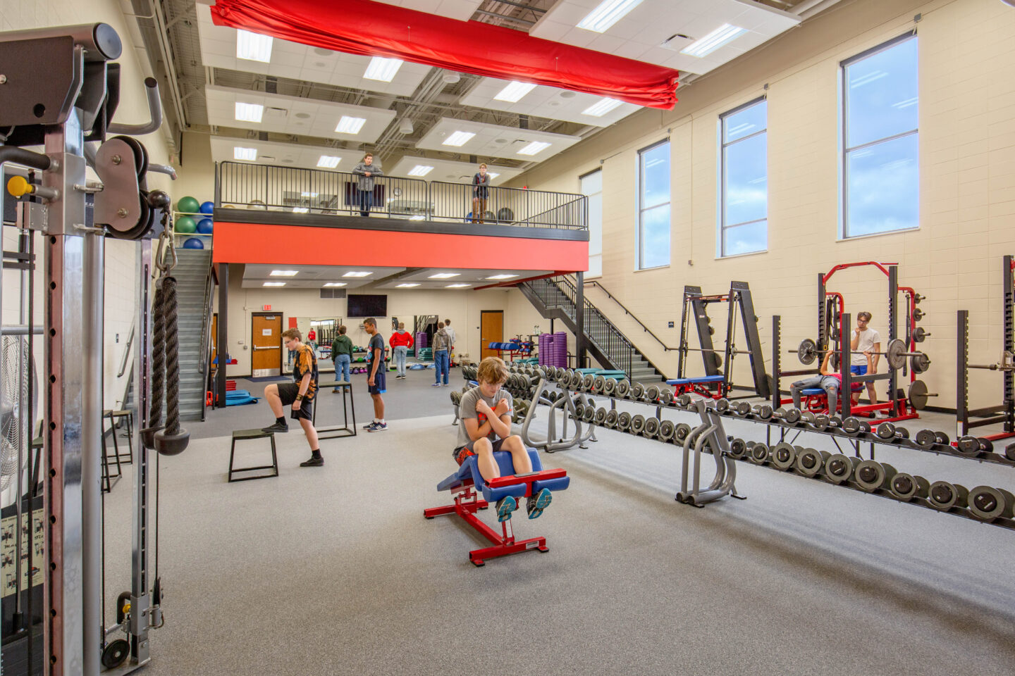
[[768,102],[722,116],[719,255],[768,248]]

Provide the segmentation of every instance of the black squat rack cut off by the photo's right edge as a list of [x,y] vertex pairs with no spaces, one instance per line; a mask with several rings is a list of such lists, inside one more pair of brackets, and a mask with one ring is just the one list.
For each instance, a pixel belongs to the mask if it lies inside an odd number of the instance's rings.
[[[997,441],[1015,437],[1015,258],[1006,255],[1002,261],[1002,298],[1004,321],[1002,322],[1001,359],[996,364],[969,364],[969,311],[958,311],[958,340],[956,347],[957,374],[955,381],[955,412],[958,419],[959,436],[969,434],[972,428],[1002,423],[1004,432],[985,435],[984,439]],[[1001,371],[1001,403],[983,408],[969,409],[969,369]],[[970,418],[982,420],[970,421]]]

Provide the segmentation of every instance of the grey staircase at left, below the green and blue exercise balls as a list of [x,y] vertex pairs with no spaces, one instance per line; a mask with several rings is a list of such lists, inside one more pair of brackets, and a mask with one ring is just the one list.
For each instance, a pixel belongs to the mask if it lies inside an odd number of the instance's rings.
[[177,249],[177,323],[180,331],[180,420],[204,420],[211,325],[211,250]]

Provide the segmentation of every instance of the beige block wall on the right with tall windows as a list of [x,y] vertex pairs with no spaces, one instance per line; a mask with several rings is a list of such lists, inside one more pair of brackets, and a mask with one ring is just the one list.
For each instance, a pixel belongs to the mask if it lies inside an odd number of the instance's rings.
[[[921,14],[919,22],[913,21]],[[839,63],[916,26],[920,40],[920,228],[838,239]],[[722,293],[731,280],[751,285],[759,330],[770,354],[771,315],[783,317],[783,343],[816,332],[816,278],[834,265],[899,264],[899,283],[927,296],[921,323],[931,370],[922,377],[955,401],[955,311],[970,311],[970,357],[995,361],[1001,349],[1001,256],[1015,253],[1015,9],[996,0],[856,0],[842,2],[727,66],[677,90],[672,111],[641,110],[537,165],[514,182],[578,192],[579,175],[603,170],[602,283],[668,345],[676,346],[685,284]],[[765,85],[768,85],[767,90]],[[762,94],[768,99],[768,250],[716,257],[719,116]],[[671,142],[672,239],[668,268],[635,271],[637,150]],[[872,268],[843,271],[829,290],[847,309],[869,309],[888,330],[887,278]],[[664,352],[595,288],[589,298],[668,373]],[[715,312],[715,340],[725,324]],[[676,328],[668,329],[667,321]],[[900,326],[901,329],[901,326]],[[696,340],[692,335],[692,341]],[[736,343],[743,347],[740,335]],[[692,343],[693,345],[693,343]],[[784,369],[799,368],[784,357]],[[767,360],[766,360],[767,361]],[[699,359],[690,373],[700,373]],[[734,380],[750,385],[737,361]],[[784,383],[784,387],[789,383]],[[970,403],[1000,400],[996,373],[973,372]],[[880,391],[886,391],[882,386]]]

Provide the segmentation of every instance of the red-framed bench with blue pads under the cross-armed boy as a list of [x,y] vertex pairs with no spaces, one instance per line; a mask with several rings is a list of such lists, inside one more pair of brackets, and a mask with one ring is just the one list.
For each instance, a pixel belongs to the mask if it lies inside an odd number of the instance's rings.
[[[501,532],[497,534],[495,530],[476,516],[477,510],[485,510],[490,503],[496,503],[505,496],[514,496],[519,500],[521,507],[522,498],[537,494],[543,489],[556,492],[563,491],[568,486],[570,477],[567,476],[567,472],[563,469],[543,469],[536,449],[530,448],[528,450],[529,457],[532,458],[533,471],[531,474],[516,475],[511,453],[497,451],[493,454],[493,459],[500,467],[502,475],[489,482],[485,481],[482,474],[479,473],[479,467],[476,465],[477,456],[469,456],[458,468],[458,471],[437,483],[437,491],[451,491],[456,494],[455,503],[447,507],[423,510],[423,516],[427,519],[445,514],[457,514],[493,544],[491,547],[473,549],[469,552],[469,560],[472,561],[473,566],[484,566],[487,558],[505,556],[527,549],[548,551],[545,537],[532,537],[516,542],[511,519],[500,522]],[[482,494],[482,499],[480,499],[479,494]]]

